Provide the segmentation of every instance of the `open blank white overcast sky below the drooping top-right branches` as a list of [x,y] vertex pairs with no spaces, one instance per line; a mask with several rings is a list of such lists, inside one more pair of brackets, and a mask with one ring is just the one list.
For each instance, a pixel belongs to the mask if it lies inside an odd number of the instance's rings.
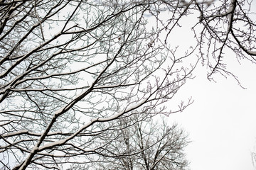
[[182,113],[173,114],[191,139],[186,148],[191,170],[253,170],[251,153],[256,151],[256,66],[250,62],[232,63],[243,86],[229,77],[215,75],[217,83],[206,79],[198,67],[196,78],[178,91],[178,98],[193,96],[194,103]]

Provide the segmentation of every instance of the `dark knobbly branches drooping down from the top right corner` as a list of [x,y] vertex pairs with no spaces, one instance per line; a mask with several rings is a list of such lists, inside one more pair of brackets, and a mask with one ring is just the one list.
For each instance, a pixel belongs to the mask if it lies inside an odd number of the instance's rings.
[[[237,60],[256,60],[255,4],[252,1],[220,0],[196,4],[199,22],[193,27],[199,43],[203,64],[209,68],[208,79],[213,74],[238,77],[227,69],[227,60],[233,52]],[[199,27],[199,29],[197,29]],[[240,84],[240,83],[239,83]]]

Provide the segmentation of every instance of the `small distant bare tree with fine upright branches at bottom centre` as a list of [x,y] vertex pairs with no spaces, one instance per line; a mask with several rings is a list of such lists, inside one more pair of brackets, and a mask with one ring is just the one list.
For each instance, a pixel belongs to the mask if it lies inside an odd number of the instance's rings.
[[[136,121],[137,120],[137,121]],[[164,120],[138,121],[133,118],[119,121],[119,131],[93,169],[186,169],[183,148],[188,145],[187,135],[178,126],[166,125]]]

